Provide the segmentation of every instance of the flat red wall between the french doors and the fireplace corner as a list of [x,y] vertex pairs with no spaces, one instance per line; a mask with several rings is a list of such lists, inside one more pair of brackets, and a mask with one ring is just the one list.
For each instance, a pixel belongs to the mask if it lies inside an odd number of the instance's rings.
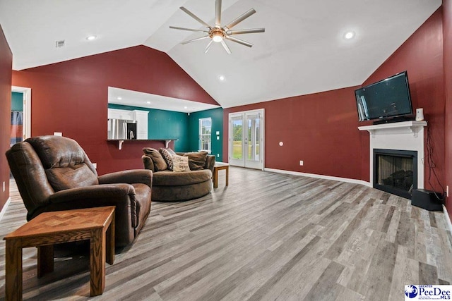
[[[356,88],[237,106],[224,110],[224,120],[232,112],[265,109],[266,168],[362,179],[364,153],[357,128]],[[227,123],[223,133],[223,154],[228,154]]]

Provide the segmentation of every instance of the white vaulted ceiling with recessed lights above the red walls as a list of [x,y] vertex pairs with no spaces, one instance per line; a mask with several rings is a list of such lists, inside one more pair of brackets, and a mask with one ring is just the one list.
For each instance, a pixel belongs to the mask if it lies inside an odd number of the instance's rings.
[[[169,25],[205,28],[179,6],[213,25],[214,0],[0,0],[0,24],[15,70],[144,44],[230,107],[361,85],[441,0],[223,0],[222,23],[255,8],[234,30],[266,28],[239,36],[252,48],[227,41],[230,55],[220,44],[204,54],[208,39],[180,44],[203,34]],[[347,30],[355,39],[343,39]],[[66,46],[55,48],[62,39]]]

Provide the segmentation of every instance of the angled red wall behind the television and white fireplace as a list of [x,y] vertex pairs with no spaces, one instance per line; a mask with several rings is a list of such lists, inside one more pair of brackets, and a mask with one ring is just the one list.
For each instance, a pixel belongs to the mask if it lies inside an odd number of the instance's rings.
[[[402,46],[397,49],[364,83],[371,84],[408,70],[413,110],[424,108],[424,118],[433,142],[436,174],[444,185],[444,68],[442,9],[439,8]],[[426,135],[427,140],[427,135]],[[425,149],[427,156],[427,149]],[[425,188],[442,191],[425,159]],[[369,164],[367,165],[369,166]],[[446,186],[444,185],[444,188]]]

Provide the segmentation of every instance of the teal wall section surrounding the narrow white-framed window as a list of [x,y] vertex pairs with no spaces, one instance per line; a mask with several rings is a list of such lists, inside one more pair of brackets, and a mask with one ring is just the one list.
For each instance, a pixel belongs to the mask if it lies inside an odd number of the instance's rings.
[[[199,145],[199,119],[212,118],[212,154],[216,161],[223,161],[223,109],[210,109],[191,113],[189,116],[189,147],[191,151],[197,151]],[[216,133],[220,132],[217,140]]]

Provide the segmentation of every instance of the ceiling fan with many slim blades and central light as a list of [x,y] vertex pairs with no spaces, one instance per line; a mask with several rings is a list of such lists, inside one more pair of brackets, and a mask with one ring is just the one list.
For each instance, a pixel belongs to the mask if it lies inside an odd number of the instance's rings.
[[196,30],[191,28],[185,28],[185,27],[176,27],[176,26],[169,26],[169,28],[175,29],[175,30],[187,30],[187,31],[193,31],[193,32],[204,32],[207,35],[203,37],[198,37],[196,39],[189,39],[188,41],[182,42],[182,44],[188,44],[191,42],[199,41],[201,39],[209,39],[210,42],[207,45],[204,53],[206,54],[207,51],[209,51],[210,46],[212,46],[212,42],[220,42],[222,44],[222,47],[226,50],[227,54],[231,54],[231,50],[229,47],[227,47],[227,44],[225,42],[225,39],[228,39],[232,42],[236,42],[242,45],[245,45],[247,47],[252,47],[253,44],[244,41],[243,39],[237,39],[237,37],[232,37],[232,35],[242,35],[245,33],[255,33],[255,32],[265,32],[265,28],[253,28],[253,29],[246,29],[246,30],[231,30],[232,27],[239,24],[252,14],[256,13],[254,8],[251,8],[249,11],[246,11],[242,16],[239,16],[238,18],[235,18],[232,20],[229,24],[225,26],[221,26],[221,0],[215,0],[215,25],[210,26],[197,16],[195,16],[194,13],[191,13],[188,9],[184,8],[184,6],[181,7],[182,11],[184,11],[187,15],[191,16],[191,18],[194,18],[202,25],[206,26],[208,30]]

